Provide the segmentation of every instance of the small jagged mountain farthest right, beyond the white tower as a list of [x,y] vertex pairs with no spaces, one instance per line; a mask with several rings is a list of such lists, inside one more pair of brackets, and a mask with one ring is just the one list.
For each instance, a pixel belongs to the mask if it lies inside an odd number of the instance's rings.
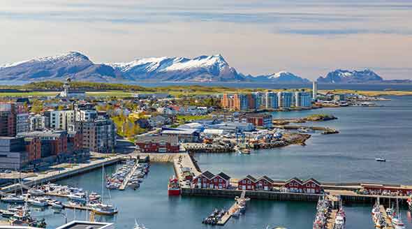
[[369,69],[363,71],[335,70],[325,77],[319,77],[321,83],[365,83],[383,82],[383,78]]

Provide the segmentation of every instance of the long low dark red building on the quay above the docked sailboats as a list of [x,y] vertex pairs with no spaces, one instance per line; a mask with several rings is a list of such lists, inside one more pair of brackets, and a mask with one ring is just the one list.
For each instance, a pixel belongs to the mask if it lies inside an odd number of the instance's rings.
[[179,153],[177,135],[141,136],[135,141],[136,149],[142,153]]

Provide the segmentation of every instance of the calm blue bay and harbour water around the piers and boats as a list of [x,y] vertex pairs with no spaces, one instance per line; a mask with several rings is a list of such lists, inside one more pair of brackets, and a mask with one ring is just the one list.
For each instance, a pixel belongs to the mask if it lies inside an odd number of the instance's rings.
[[[412,96],[391,97],[378,108],[328,108],[302,112],[276,112],[274,117],[304,117],[308,114],[328,113],[339,119],[315,123],[339,129],[337,135],[315,134],[307,146],[290,146],[265,149],[251,155],[197,154],[203,170],[223,170],[232,177],[269,175],[274,179],[314,177],[323,182],[386,182],[412,184]],[[310,123],[308,123],[310,125]],[[386,163],[374,161],[377,156],[388,159]],[[115,171],[111,165],[107,174]],[[71,177],[59,182],[80,186],[101,193],[101,170]],[[171,164],[155,163],[137,191],[105,190],[105,200],[119,207],[114,217],[97,216],[98,221],[115,222],[117,228],[133,228],[135,219],[148,228],[212,228],[201,221],[214,207],[230,207],[230,198],[168,197],[168,177],[173,175]],[[109,198],[109,195],[111,198]],[[6,205],[0,204],[0,207]],[[370,205],[346,206],[347,228],[374,228]],[[68,221],[86,219],[85,212],[67,209]],[[277,202],[251,200],[247,212],[240,219],[230,219],[223,228],[252,229],[286,226],[293,229],[311,228],[315,203]],[[64,216],[50,209],[34,212],[45,217],[48,228],[64,223]],[[402,210],[407,228],[412,228],[411,213]]]

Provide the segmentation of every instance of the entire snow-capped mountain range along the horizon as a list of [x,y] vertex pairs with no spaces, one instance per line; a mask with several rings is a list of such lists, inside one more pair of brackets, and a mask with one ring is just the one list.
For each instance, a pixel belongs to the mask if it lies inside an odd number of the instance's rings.
[[[304,84],[310,80],[281,71],[268,75],[243,75],[220,55],[185,57],[156,57],[136,59],[127,63],[94,63],[80,52],[68,52],[0,66],[0,80],[43,81],[72,80],[89,82],[268,82]],[[389,82],[367,69],[364,71],[336,70],[321,83]],[[392,80],[411,82],[411,80]]]

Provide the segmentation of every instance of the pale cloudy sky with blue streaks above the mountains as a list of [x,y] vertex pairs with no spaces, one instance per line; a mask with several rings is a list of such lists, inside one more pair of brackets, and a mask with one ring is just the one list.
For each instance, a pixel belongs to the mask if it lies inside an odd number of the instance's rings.
[[240,73],[412,79],[412,1],[1,0],[0,65],[69,51],[94,62],[221,54]]

